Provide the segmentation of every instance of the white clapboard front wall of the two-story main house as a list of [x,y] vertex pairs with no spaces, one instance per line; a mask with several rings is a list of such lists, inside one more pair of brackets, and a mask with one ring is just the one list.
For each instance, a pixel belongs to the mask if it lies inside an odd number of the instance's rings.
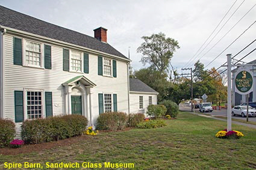
[[[49,44],[51,45],[51,44]],[[52,91],[54,115],[65,113],[64,87],[61,85],[75,76],[84,75],[96,84],[92,89],[93,118],[99,115],[98,93],[117,94],[118,111],[128,112],[128,80],[126,62],[117,61],[117,77],[98,75],[98,56],[89,53],[89,74],[63,71],[63,48],[52,46],[52,69],[24,67],[13,64],[13,37],[4,35],[4,117],[14,121],[14,90],[23,88]],[[81,50],[83,52],[83,50]],[[18,124],[17,124],[18,125]],[[17,129],[19,129],[17,127]]]

